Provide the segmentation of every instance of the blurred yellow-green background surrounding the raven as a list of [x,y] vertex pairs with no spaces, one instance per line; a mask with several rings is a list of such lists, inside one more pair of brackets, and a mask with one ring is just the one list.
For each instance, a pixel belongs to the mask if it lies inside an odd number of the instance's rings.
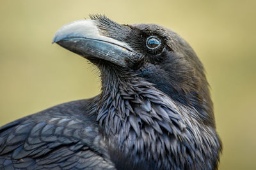
[[220,169],[256,169],[255,0],[0,2],[0,125],[99,94],[97,69],[51,40],[62,25],[100,13],[120,24],[164,25],[186,39],[211,84]]

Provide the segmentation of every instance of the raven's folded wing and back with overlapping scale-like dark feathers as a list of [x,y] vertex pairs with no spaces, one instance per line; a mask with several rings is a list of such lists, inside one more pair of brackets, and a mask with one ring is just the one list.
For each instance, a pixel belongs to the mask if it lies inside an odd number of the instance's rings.
[[112,169],[102,159],[95,118],[86,117],[89,101],[60,104],[1,127],[0,168]]

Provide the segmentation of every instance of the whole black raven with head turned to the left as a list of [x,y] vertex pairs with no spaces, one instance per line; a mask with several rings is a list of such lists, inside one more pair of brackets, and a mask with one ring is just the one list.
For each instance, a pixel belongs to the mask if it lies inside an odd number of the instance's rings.
[[102,92],[1,127],[0,169],[218,168],[204,67],[178,34],[93,15],[53,43],[95,64]]

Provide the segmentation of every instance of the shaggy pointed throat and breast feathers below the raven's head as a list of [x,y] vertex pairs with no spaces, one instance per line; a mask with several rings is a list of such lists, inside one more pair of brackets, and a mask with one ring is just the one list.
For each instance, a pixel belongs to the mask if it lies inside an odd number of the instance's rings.
[[[148,169],[216,167],[220,143],[214,127],[204,125],[196,110],[178,106],[151,83],[122,71],[125,69],[107,70],[110,76],[106,70],[101,75],[97,121],[109,152],[118,148],[113,152],[131,159],[131,167],[141,162]],[[124,163],[115,156],[112,159]],[[188,161],[180,162],[183,160]]]

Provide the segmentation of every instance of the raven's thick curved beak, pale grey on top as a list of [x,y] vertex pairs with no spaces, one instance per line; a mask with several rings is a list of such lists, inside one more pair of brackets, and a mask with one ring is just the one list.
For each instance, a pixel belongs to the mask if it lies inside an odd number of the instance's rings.
[[61,27],[52,43],[57,43],[83,57],[108,60],[126,66],[125,59],[134,55],[132,48],[122,41],[102,36],[97,20],[77,20]]

